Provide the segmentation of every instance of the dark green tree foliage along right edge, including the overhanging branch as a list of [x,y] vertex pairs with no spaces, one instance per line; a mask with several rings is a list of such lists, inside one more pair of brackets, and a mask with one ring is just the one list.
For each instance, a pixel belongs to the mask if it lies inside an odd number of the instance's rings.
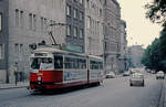
[[153,0],[145,6],[146,18],[163,24],[160,38],[149,45],[142,58],[145,66],[153,69],[166,69],[166,0]]

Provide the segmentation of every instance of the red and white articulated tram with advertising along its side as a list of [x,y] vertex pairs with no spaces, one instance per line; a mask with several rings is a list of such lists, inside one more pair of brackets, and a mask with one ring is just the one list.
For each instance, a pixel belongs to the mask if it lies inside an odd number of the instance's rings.
[[55,89],[103,81],[103,58],[39,47],[30,57],[30,88]]

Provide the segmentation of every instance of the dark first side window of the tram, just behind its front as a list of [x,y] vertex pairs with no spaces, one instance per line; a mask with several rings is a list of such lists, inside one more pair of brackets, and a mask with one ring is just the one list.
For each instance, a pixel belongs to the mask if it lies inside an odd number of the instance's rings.
[[63,57],[62,56],[54,56],[54,67],[63,68]]

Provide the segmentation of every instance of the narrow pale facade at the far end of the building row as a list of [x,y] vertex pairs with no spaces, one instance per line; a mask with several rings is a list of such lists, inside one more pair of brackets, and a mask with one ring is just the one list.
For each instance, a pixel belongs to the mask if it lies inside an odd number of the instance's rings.
[[127,69],[127,34],[126,34],[126,22],[121,20],[121,55],[120,60],[120,72]]

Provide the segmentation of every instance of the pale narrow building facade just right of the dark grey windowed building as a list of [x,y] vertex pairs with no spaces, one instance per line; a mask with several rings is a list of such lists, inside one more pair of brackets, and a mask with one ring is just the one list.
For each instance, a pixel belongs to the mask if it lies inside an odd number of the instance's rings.
[[85,1],[85,53],[103,56],[103,0]]

